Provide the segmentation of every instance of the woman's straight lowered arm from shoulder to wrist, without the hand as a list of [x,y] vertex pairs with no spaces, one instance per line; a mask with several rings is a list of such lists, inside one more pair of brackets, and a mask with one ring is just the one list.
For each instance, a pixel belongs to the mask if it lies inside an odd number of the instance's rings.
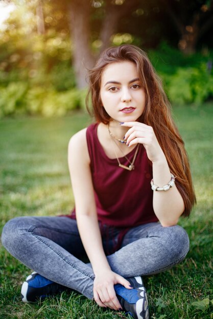
[[[68,145],[68,165],[80,236],[89,255],[93,271],[96,271],[99,265],[107,269],[109,265],[102,248],[89,168],[89,155],[84,135],[85,131],[82,130],[70,139]],[[87,237],[89,237],[89,241],[85,240]]]

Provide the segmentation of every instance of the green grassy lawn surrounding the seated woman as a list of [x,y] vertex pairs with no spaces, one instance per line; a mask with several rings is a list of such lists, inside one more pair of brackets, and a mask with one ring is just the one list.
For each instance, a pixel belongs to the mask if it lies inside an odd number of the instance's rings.
[[[191,240],[186,259],[170,271],[145,277],[150,317],[210,319],[213,318],[213,105],[174,108],[173,112],[190,157],[197,205],[189,219],[179,222]],[[73,207],[67,143],[89,121],[80,112],[59,119],[0,121],[0,233],[13,217],[67,214]],[[76,293],[64,292],[42,304],[23,304],[20,285],[29,273],[0,244],[1,319],[126,318],[120,312],[103,310]],[[203,302],[192,304],[197,301]]]

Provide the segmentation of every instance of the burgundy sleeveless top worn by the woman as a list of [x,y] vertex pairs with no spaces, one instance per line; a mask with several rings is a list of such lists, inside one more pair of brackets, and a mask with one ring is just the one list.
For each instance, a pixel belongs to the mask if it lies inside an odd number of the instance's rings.
[[[131,228],[141,224],[157,222],[153,210],[152,164],[142,144],[134,162],[134,170],[119,167],[117,159],[109,158],[99,142],[98,123],[86,130],[90,169],[96,200],[98,220],[101,224]],[[126,155],[132,162],[135,148]],[[126,157],[120,157],[121,164],[129,166]],[[75,209],[70,218],[75,219]]]

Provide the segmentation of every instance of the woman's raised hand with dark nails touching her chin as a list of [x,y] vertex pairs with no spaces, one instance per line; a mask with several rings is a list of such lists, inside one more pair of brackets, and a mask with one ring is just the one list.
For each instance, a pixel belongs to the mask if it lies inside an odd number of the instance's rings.
[[125,135],[128,146],[138,143],[143,144],[147,151],[147,156],[152,163],[164,158],[163,151],[151,126],[140,122],[125,122],[121,126],[130,127]]

